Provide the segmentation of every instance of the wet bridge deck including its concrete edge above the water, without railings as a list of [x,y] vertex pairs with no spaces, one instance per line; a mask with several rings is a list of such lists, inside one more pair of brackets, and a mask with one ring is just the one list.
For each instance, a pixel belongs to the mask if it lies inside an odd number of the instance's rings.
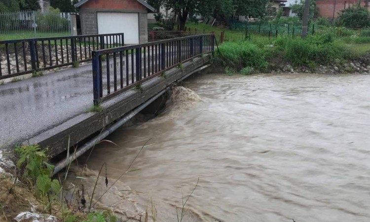
[[39,144],[55,156],[209,60],[207,54],[184,63],[181,70],[166,71],[166,78],[157,76],[145,82],[143,92],[128,90],[103,103],[102,113],[86,112],[93,105],[91,64],[0,85],[0,149]]

